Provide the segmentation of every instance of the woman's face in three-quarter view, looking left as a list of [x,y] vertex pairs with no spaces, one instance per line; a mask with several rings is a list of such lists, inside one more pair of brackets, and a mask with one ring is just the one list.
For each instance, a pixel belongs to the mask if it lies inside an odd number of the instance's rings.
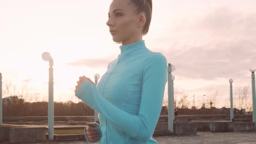
[[112,1],[106,24],[114,42],[124,42],[141,31],[137,26],[139,19],[135,10],[130,0]]

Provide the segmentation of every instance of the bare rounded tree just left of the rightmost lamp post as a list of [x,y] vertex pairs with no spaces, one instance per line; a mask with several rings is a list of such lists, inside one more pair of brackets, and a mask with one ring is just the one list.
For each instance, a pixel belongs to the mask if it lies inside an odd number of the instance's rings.
[[240,114],[245,114],[245,111],[249,114],[253,109],[253,102],[252,98],[249,97],[248,88],[248,86],[240,87],[235,92],[234,107],[240,109]]

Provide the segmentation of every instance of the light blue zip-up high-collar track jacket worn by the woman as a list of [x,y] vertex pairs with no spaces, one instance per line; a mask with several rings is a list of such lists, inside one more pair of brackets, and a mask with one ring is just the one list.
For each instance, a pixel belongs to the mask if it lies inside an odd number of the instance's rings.
[[99,112],[100,144],[158,144],[152,135],[162,108],[167,60],[146,48],[144,40],[119,49],[97,86],[85,79],[75,95]]

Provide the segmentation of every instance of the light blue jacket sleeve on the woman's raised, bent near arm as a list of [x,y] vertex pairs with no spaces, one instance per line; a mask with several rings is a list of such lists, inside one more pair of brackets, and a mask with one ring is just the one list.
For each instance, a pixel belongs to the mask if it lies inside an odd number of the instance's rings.
[[80,85],[75,95],[95,109],[123,132],[146,142],[154,133],[158,123],[165,84],[167,82],[167,60],[160,52],[152,55],[143,70],[141,103],[138,115],[131,115],[102,97],[95,84],[87,79]]

